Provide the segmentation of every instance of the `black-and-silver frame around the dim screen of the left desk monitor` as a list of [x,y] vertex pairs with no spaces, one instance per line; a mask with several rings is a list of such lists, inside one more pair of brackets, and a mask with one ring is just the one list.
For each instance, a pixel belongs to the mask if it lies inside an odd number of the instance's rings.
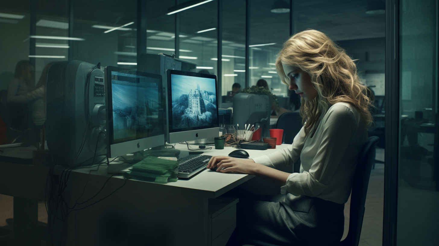
[[[111,86],[111,75],[112,72],[119,72],[119,71],[136,71],[136,75],[139,76],[145,76],[145,77],[151,77],[151,78],[155,78],[158,79],[158,101],[160,102],[160,104],[162,105],[163,110],[166,110],[165,107],[166,105],[163,105],[162,103],[162,97],[164,96],[162,94],[163,91],[163,83],[162,83],[162,76],[161,75],[157,75],[154,73],[149,73],[149,72],[141,72],[138,70],[134,70],[134,69],[126,69],[126,68],[119,68],[119,67],[114,67],[114,66],[107,66],[105,67],[105,104],[106,104],[106,110],[107,110],[107,123],[106,123],[106,127],[107,127],[107,135],[108,135],[108,152],[112,153],[111,151],[111,146],[115,146],[118,145],[121,146],[121,144],[127,144],[130,142],[133,142],[134,145],[137,145],[137,143],[139,143],[140,140],[142,139],[150,139],[150,138],[154,138],[155,140],[157,139],[163,139],[163,143],[161,143],[160,145],[164,144],[164,138],[165,138],[165,126],[163,126],[162,128],[162,134],[158,134],[155,136],[151,136],[151,137],[142,137],[142,138],[136,138],[136,139],[129,139],[129,140],[124,140],[124,141],[114,141],[114,133],[113,133],[113,114],[112,114],[112,109],[113,109],[113,98],[112,98],[112,86]],[[163,112],[165,113],[165,112]],[[144,142],[144,141],[142,141]],[[152,148],[155,146],[145,146],[146,143],[142,143],[142,150],[146,149],[146,148]],[[149,144],[146,144],[149,145]],[[156,145],[159,146],[159,145]],[[138,147],[140,148],[140,147]],[[133,149],[132,152],[136,152],[138,150]],[[132,153],[129,152],[129,153]],[[129,154],[126,153],[126,154]],[[113,155],[112,155],[113,156]]]

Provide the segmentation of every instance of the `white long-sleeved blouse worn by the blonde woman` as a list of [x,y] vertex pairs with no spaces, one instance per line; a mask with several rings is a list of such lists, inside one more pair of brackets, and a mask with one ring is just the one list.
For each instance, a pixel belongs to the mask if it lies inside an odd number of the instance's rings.
[[344,204],[348,201],[356,163],[367,130],[355,106],[338,102],[321,118],[314,135],[302,129],[288,148],[253,158],[273,168],[290,166],[300,157],[300,173],[288,176],[292,195],[307,195]]

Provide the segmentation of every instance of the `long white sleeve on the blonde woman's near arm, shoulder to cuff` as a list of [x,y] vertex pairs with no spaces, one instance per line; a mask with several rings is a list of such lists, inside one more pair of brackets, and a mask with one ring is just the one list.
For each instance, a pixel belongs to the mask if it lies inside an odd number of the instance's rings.
[[357,130],[355,116],[345,105],[331,107],[321,124],[324,127],[321,142],[309,172],[303,170],[288,176],[287,191],[292,195],[320,195],[331,184],[351,136]]

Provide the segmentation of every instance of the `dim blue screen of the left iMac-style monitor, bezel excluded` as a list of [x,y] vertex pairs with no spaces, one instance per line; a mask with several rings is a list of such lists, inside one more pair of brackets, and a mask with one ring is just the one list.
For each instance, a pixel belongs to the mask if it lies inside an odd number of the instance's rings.
[[[148,76],[149,75],[149,76]],[[160,76],[111,71],[110,141],[120,143],[164,134]]]

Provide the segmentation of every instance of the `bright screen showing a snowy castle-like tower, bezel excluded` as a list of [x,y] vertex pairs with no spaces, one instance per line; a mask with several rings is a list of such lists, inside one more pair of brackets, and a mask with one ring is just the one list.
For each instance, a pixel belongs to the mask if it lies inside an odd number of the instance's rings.
[[169,132],[218,127],[216,76],[180,73],[170,74]]

